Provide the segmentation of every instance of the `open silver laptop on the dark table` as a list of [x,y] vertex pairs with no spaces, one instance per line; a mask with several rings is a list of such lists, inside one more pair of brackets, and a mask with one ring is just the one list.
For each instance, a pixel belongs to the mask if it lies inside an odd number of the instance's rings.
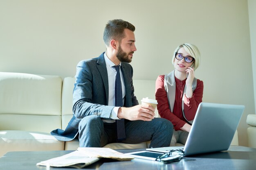
[[228,150],[245,106],[201,102],[185,146],[148,148],[168,153],[183,148],[184,156]]

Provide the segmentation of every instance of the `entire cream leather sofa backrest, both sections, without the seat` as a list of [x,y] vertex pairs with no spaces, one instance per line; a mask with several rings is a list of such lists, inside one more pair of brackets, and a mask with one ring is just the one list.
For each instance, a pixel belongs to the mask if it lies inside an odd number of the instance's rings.
[[[72,118],[74,77],[0,72],[0,131],[49,133]],[[155,81],[134,80],[135,95],[155,98]],[[157,110],[155,111],[158,116]]]

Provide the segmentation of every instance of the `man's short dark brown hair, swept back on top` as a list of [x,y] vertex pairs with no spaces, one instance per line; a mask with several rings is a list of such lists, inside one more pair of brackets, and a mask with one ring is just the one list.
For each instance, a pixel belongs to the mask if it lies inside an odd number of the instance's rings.
[[124,38],[124,29],[128,28],[130,31],[135,31],[135,26],[133,26],[131,23],[121,20],[121,19],[115,19],[108,21],[108,24],[106,24],[104,34],[103,34],[103,40],[106,45],[109,44],[111,39],[117,39],[117,41],[121,41]]

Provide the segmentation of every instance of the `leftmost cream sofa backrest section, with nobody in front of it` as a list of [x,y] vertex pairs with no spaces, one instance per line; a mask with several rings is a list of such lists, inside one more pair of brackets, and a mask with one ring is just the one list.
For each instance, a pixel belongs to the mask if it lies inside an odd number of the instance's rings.
[[60,76],[0,72],[0,130],[61,128]]

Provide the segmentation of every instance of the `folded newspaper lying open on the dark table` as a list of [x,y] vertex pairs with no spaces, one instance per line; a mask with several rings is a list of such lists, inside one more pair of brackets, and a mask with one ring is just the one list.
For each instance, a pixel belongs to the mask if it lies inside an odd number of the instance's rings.
[[80,169],[98,161],[101,158],[117,159],[119,161],[130,161],[131,159],[134,159],[134,157],[125,155],[124,153],[117,152],[116,150],[110,148],[79,147],[72,153],[68,153],[61,157],[48,159],[46,161],[41,161],[36,165]]

